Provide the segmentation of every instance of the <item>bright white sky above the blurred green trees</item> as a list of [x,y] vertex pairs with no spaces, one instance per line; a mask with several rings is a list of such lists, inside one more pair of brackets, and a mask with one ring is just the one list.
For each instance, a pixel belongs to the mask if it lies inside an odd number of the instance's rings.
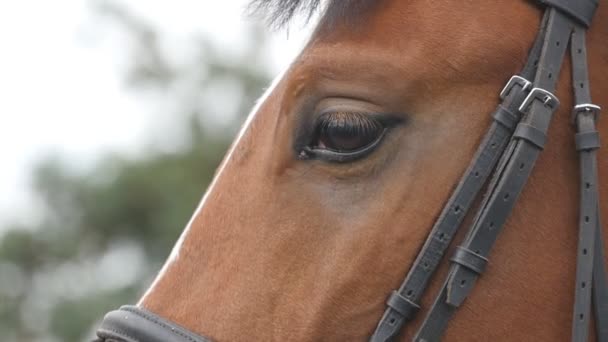
[[[29,172],[59,152],[72,164],[109,150],[137,151],[148,138],[150,105],[124,85],[121,37],[95,13],[98,1],[0,1],[0,231],[30,218]],[[229,51],[244,43],[245,0],[115,0],[179,45],[194,33]],[[307,32],[275,33],[269,65],[278,72]],[[179,46],[177,46],[179,48]]]

